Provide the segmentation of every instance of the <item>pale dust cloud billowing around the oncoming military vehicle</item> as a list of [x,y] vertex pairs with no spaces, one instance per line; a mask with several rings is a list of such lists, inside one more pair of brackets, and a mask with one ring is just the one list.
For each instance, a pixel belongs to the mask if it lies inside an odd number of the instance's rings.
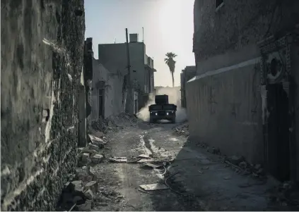
[[155,104],[155,95],[168,95],[169,103],[175,104],[177,106],[176,122],[182,123],[187,120],[187,112],[185,108],[181,107],[181,93],[180,87],[157,87],[156,94],[151,93],[149,95],[149,100],[143,108],[137,114],[137,117],[143,121],[149,121],[149,111],[148,106]]

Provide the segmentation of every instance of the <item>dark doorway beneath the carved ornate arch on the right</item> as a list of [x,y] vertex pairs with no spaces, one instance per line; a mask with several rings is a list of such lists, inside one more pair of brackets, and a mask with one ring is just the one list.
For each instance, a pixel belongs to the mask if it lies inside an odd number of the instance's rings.
[[290,180],[290,139],[288,94],[282,83],[266,86],[267,89],[267,154],[266,162],[271,175],[277,180]]

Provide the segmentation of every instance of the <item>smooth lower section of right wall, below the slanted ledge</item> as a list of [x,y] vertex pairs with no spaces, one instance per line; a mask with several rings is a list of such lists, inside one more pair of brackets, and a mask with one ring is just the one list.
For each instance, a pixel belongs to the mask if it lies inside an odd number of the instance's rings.
[[224,154],[261,163],[259,63],[234,68],[187,83],[190,138],[219,147]]

